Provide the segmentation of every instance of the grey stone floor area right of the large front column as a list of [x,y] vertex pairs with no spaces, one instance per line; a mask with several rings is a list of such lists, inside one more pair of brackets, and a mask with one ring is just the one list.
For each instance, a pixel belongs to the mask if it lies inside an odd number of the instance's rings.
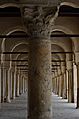
[[53,119],[79,119],[79,109],[74,103],[68,103],[57,95],[52,95]]

